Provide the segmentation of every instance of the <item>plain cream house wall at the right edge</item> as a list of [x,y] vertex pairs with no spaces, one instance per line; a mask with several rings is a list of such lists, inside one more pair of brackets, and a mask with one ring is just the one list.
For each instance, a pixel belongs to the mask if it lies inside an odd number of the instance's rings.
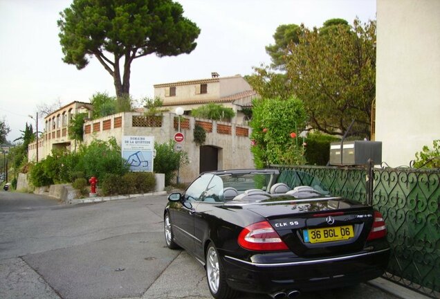
[[409,165],[440,139],[440,1],[377,1],[376,141]]

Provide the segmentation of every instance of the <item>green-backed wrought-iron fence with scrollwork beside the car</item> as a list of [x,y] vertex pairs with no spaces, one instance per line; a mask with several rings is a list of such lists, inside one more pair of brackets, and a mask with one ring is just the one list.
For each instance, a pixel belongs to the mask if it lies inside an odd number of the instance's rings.
[[384,277],[440,298],[440,170],[272,165],[288,183],[293,171],[315,176],[335,196],[372,205],[385,218],[392,248]]

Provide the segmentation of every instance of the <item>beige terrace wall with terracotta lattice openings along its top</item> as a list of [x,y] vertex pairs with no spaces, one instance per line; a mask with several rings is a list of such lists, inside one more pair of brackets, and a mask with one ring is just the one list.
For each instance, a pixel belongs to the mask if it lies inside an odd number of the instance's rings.
[[[156,121],[147,121],[140,112],[124,112],[84,123],[84,142],[90,143],[93,138],[107,141],[116,138],[119,145],[122,136],[154,136],[156,143],[173,140],[178,131],[176,114],[165,113]],[[102,129],[104,122],[108,129]],[[218,170],[253,168],[253,155],[250,152],[250,127],[235,123],[204,120],[183,116],[181,132],[185,136],[183,151],[187,152],[190,163],[180,170],[180,181],[189,183],[199,175],[200,147],[194,143],[194,127],[201,125],[206,132],[204,145],[218,149]],[[93,128],[96,130],[93,131]],[[99,129],[98,129],[99,128]]]

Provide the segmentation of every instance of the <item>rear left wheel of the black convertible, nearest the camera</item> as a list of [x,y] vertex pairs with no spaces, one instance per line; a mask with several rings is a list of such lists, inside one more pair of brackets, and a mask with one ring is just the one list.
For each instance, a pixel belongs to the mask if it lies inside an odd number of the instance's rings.
[[212,297],[216,299],[232,299],[238,292],[231,289],[226,282],[226,275],[219,260],[219,253],[214,244],[210,243],[206,250],[206,280]]

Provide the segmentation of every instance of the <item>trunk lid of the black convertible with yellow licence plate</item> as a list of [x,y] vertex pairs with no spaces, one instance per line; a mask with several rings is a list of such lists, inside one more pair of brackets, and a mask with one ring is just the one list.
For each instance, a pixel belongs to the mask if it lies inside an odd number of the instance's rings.
[[340,197],[277,197],[243,208],[264,217],[288,248],[304,257],[361,250],[374,220],[372,207]]

